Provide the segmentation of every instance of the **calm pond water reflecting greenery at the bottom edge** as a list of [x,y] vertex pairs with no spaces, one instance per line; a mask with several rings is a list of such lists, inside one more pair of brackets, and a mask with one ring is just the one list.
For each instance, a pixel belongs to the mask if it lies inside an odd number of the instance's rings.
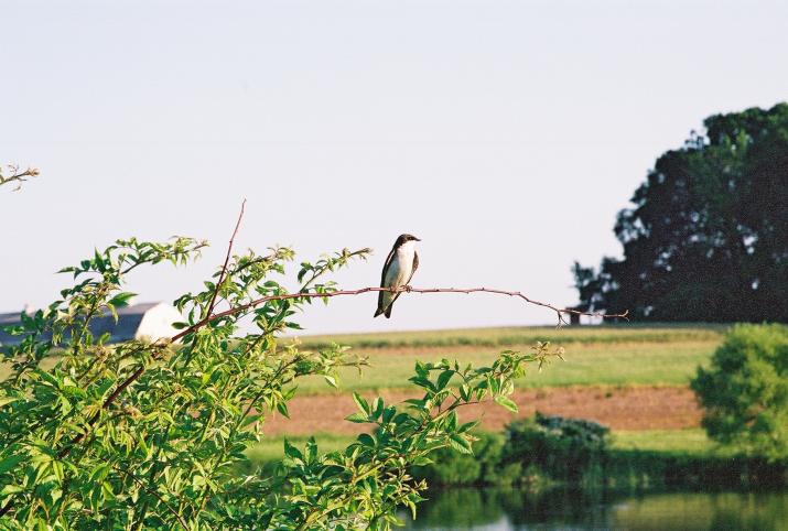
[[516,489],[433,491],[404,529],[514,530],[788,530],[788,491],[609,495]]

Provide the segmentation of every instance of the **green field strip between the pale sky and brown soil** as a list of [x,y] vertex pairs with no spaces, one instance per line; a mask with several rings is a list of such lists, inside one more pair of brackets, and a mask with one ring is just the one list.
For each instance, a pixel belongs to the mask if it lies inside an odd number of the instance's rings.
[[[417,359],[486,365],[501,349],[526,351],[538,340],[563,346],[564,361],[531,371],[517,382],[520,387],[683,386],[709,360],[724,329],[719,325],[478,328],[311,336],[300,342],[304,349],[334,342],[369,357],[370,367],[360,376],[355,369],[342,371],[339,386],[345,391],[408,387]],[[304,379],[299,388],[307,394],[336,392],[322,378]]]

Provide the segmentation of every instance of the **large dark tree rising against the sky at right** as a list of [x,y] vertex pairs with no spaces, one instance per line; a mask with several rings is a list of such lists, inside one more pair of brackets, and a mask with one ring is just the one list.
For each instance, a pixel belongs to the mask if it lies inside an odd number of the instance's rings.
[[575,262],[581,310],[648,321],[788,322],[788,104],[716,115],[662,154],[615,234],[624,259]]

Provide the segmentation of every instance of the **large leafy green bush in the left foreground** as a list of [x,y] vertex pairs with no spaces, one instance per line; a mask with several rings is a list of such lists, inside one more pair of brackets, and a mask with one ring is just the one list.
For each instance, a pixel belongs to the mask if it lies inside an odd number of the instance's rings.
[[[504,351],[489,367],[441,360],[415,366],[423,393],[406,404],[367,401],[348,420],[370,424],[339,452],[285,443],[272,474],[248,469],[247,448],[272,411],[288,415],[300,379],[337,384],[337,369],[363,367],[345,347],[302,350],[280,336],[293,315],[337,289],[323,278],[368,250],[301,262],[298,289],[277,279],[294,253],[249,251],[175,304],[185,315],[172,339],[110,345],[90,321],[131,296],[137,268],[185,264],[204,242],[120,240],[64,273],[74,285],[12,332],[11,376],[0,383],[0,514],[7,529],[388,529],[397,507],[414,510],[424,481],[408,473],[440,448],[469,453],[475,423],[456,410],[506,397],[547,345]],[[222,307],[222,310],[219,310]],[[249,330],[251,332],[245,332]],[[48,370],[42,368],[47,360]]]

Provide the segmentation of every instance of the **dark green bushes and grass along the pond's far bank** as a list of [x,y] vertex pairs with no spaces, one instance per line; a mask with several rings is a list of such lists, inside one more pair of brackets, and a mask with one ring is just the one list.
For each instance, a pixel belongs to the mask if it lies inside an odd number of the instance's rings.
[[788,460],[735,452],[620,448],[595,422],[546,416],[518,420],[505,434],[479,434],[474,456],[446,451],[413,475],[432,485],[518,485],[529,492],[557,486],[583,491],[661,488],[782,487]]

